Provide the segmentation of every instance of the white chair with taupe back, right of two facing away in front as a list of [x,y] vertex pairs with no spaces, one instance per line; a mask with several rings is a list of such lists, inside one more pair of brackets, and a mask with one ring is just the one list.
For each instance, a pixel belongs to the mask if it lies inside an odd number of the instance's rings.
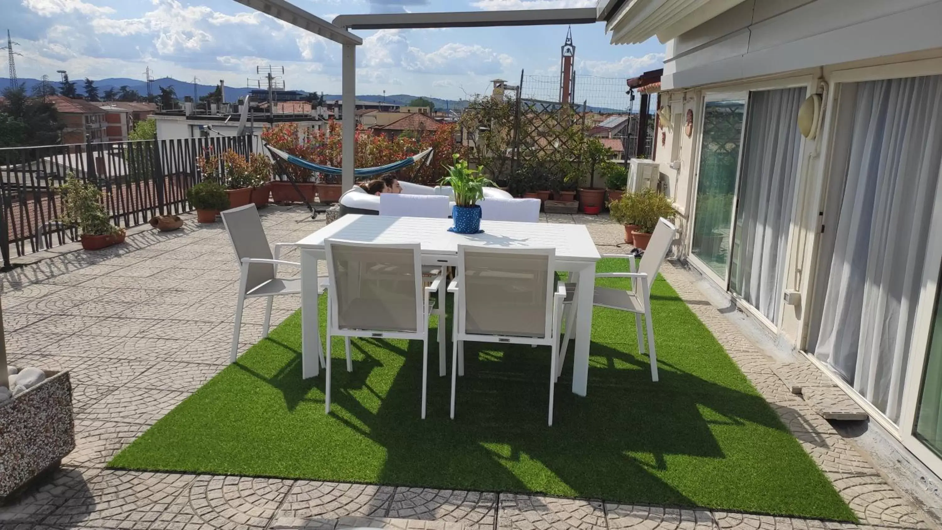
[[451,418],[455,417],[457,374],[463,375],[465,341],[548,345],[549,412],[553,395],[565,286],[555,288],[555,249],[483,249],[458,246],[454,346],[451,352]]

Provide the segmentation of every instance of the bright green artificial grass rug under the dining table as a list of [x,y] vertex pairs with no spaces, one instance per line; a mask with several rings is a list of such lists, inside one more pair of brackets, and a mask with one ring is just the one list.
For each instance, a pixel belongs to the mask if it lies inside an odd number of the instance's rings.
[[[598,270],[624,265],[603,260]],[[296,313],[109,466],[855,521],[671,286],[658,278],[652,293],[660,381],[651,381],[647,357],[638,353],[633,315],[595,308],[588,395],[570,390],[570,347],[551,427],[548,347],[465,345],[452,421],[450,377],[437,376],[434,339],[426,420],[419,419],[421,343],[396,340],[354,339],[348,373],[343,340],[335,339],[333,406],[325,415],[323,372],[300,377]]]

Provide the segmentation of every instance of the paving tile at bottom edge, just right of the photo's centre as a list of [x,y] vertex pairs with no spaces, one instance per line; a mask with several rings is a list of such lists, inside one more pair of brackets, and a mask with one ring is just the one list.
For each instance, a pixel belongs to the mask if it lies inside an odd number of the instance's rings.
[[498,530],[594,530],[607,527],[601,501],[501,493],[499,502]]

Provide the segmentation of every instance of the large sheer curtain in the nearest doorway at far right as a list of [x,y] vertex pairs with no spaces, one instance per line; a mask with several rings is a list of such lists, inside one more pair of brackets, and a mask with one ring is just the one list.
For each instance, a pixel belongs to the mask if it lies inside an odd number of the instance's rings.
[[851,138],[835,153],[847,174],[837,226],[825,227],[834,248],[821,249],[831,266],[815,354],[898,422],[942,159],[942,76],[855,91],[853,127],[836,132]]

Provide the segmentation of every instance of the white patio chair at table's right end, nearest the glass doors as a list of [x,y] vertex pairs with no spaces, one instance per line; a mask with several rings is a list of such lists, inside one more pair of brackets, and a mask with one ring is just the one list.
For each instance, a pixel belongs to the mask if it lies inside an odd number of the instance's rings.
[[[595,278],[630,278],[631,290],[611,289],[609,287],[595,287],[593,293],[593,305],[599,307],[608,307],[635,313],[635,328],[638,330],[638,351],[644,354],[644,328],[647,328],[648,339],[648,359],[651,362],[651,380],[658,380],[658,351],[654,345],[654,324],[651,322],[651,284],[658,277],[660,265],[664,263],[667,257],[667,251],[671,249],[674,243],[674,234],[677,228],[670,221],[661,217],[658,220],[658,226],[651,235],[651,241],[647,249],[644,250],[642,261],[635,268],[635,257],[630,254],[602,254],[603,258],[625,258],[628,260],[628,270],[630,272],[601,272],[595,275]],[[560,361],[557,364],[557,377],[562,373],[562,363],[566,361],[566,350],[569,348],[569,340],[575,330],[576,322],[576,304],[573,303],[575,293],[573,289],[575,284],[566,284],[566,301],[563,305],[566,307],[566,333],[562,339],[560,347]],[[642,326],[642,314],[644,315],[644,326]]]

